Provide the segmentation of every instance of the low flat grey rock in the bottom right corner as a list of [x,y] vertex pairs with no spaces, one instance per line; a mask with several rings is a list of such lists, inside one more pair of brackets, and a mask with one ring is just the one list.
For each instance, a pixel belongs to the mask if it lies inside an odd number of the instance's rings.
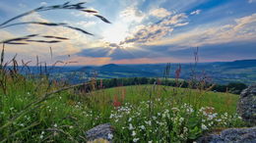
[[203,136],[197,143],[256,143],[256,126],[225,129],[221,134]]

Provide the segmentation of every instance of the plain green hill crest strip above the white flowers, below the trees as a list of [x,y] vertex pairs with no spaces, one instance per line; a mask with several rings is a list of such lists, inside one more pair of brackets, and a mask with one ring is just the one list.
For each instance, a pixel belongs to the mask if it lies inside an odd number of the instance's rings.
[[[125,90],[125,102],[139,103],[150,98],[150,90],[153,90],[153,85],[134,85],[125,87],[115,87],[104,89],[104,94],[107,96],[120,95],[121,90]],[[102,91],[99,91],[102,92]],[[99,93],[97,93],[99,94]],[[236,112],[236,103],[238,95],[221,93],[221,92],[200,92],[195,89],[176,88],[169,86],[157,86],[156,94],[153,98],[168,98],[173,96],[175,101],[190,104],[200,103],[202,107],[214,107],[217,112],[233,114]]]

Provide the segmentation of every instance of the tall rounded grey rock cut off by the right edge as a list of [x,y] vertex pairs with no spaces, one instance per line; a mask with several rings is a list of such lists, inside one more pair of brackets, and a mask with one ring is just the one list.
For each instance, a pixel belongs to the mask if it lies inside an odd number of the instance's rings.
[[244,121],[256,125],[256,84],[241,92],[237,112]]

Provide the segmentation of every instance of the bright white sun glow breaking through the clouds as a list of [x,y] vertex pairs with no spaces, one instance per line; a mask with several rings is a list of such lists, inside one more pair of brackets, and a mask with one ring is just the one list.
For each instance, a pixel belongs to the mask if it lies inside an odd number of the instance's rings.
[[127,24],[118,23],[111,25],[103,31],[103,40],[105,42],[119,44],[127,37],[127,29]]

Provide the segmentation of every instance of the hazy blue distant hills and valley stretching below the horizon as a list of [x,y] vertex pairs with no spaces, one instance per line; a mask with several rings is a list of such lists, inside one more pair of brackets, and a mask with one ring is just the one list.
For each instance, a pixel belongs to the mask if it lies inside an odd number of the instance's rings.
[[[194,64],[181,64],[180,78],[188,79]],[[92,76],[97,78],[118,77],[162,77],[166,64],[115,65],[87,67],[55,67],[48,68],[52,78],[67,79],[71,83],[84,82]],[[179,64],[170,65],[170,75],[175,76]],[[39,73],[40,69],[31,67],[31,71]],[[44,71],[44,69],[42,69]],[[197,74],[205,72],[213,82],[226,84],[228,82],[256,83],[256,60],[239,60],[234,62],[199,63]]]

